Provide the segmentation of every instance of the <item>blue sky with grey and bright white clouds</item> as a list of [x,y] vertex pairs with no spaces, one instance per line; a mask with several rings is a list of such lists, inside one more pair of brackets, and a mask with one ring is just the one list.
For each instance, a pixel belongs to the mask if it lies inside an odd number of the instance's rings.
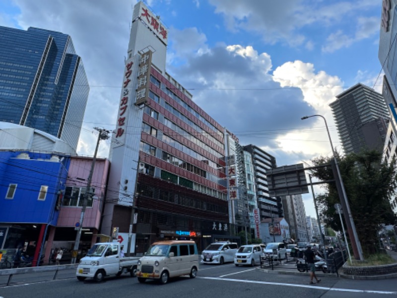
[[[0,25],[70,35],[90,94],[77,152],[114,130],[136,0],[0,0]],[[329,104],[357,83],[381,92],[382,0],[146,0],[168,28],[166,70],[241,145],[277,166],[342,152]],[[108,157],[110,142],[98,156]],[[315,194],[323,190],[315,188]],[[313,196],[303,195],[316,217]]]

